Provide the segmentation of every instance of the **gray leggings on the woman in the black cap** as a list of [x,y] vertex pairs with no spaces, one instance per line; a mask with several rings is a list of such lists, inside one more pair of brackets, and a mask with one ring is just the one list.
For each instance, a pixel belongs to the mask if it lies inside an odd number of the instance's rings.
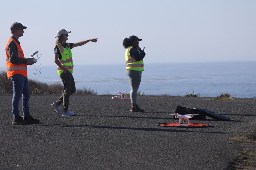
[[130,98],[131,103],[137,103],[137,91],[139,90],[142,71],[125,70],[130,82]]

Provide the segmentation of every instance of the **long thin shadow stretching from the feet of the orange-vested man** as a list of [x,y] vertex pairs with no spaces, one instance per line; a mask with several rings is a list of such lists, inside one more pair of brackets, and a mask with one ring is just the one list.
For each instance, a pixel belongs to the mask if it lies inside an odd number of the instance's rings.
[[[131,128],[131,127],[114,127],[114,126],[97,126],[97,125],[65,125],[65,124],[46,124],[46,123],[35,123],[35,124],[28,124],[28,125],[32,125],[32,126],[72,127],[72,128],[125,129],[125,130],[143,130],[143,131],[160,131],[160,132],[196,132],[196,133],[228,134],[226,132],[188,131],[188,130],[180,130],[180,129],[160,129],[160,128]],[[192,129],[192,128],[189,128],[189,129]],[[196,129],[199,129],[199,128],[196,128]]]

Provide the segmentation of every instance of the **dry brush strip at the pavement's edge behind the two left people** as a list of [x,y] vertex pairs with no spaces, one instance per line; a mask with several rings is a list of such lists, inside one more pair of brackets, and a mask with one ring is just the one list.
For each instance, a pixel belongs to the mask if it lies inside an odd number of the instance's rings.
[[[0,94],[12,94],[13,87],[11,79],[8,79],[5,71],[0,71]],[[31,94],[62,94],[64,92],[63,85],[61,83],[47,84],[37,80],[28,81],[28,86]],[[81,88],[76,89],[75,94],[91,94],[96,95],[97,92],[92,89]]]

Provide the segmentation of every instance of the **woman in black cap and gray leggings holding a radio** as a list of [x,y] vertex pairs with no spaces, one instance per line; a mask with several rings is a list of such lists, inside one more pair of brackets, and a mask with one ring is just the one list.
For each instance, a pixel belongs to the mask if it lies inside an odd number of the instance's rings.
[[123,46],[125,48],[125,62],[126,62],[126,75],[129,77],[129,83],[131,87],[131,112],[144,112],[137,104],[137,91],[139,90],[141,74],[144,71],[143,58],[146,53],[144,49],[141,50],[139,46],[139,39],[137,36],[132,35],[129,38],[125,38]]

